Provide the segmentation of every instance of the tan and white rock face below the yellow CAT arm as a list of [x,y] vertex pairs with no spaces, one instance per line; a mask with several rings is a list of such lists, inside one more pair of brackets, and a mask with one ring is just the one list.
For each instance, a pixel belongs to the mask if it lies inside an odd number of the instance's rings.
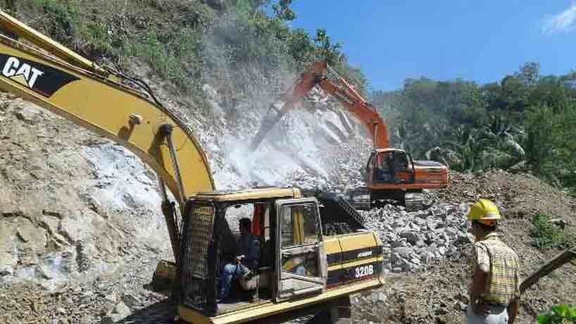
[[0,94],[0,280],[55,288],[166,251],[156,175],[134,154]]

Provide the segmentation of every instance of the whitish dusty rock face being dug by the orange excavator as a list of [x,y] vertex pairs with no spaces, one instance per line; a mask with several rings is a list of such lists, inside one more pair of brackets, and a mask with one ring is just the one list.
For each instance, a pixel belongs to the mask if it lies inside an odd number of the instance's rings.
[[[213,111],[222,111],[220,99],[211,98]],[[277,104],[282,106],[281,101]],[[368,161],[372,144],[364,137],[364,127],[327,94],[312,89],[305,107],[287,113],[251,152],[249,143],[262,118],[244,118],[249,125],[241,125],[242,120],[238,125],[224,124],[224,135],[214,137],[218,143],[207,141],[204,147],[209,149],[219,189],[274,185],[344,191],[361,182],[359,170]]]

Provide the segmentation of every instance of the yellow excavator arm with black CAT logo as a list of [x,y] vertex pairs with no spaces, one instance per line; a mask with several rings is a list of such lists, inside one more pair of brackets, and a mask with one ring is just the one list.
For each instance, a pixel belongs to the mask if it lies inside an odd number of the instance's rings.
[[188,197],[214,189],[208,161],[192,130],[151,92],[147,94],[154,101],[115,81],[138,84],[138,80],[96,66],[3,11],[0,26],[39,47],[0,35],[0,89],[112,139],[153,168],[160,178],[162,209],[177,257],[175,210],[165,186],[175,194],[180,208]]

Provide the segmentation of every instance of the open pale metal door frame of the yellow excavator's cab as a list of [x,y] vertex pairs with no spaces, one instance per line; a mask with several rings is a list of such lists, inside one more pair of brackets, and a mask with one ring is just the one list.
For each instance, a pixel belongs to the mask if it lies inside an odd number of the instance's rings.
[[[291,206],[300,206],[303,204],[313,204],[313,211],[315,213],[316,222],[316,236],[315,242],[299,242],[292,246],[282,247],[282,208],[291,208]],[[275,253],[275,289],[274,300],[276,302],[287,301],[295,299],[308,294],[320,294],[325,292],[327,280],[327,263],[326,263],[326,249],[323,242],[322,221],[320,219],[320,209],[318,208],[318,200],[315,198],[299,198],[299,199],[278,199],[275,201],[276,211],[276,226],[275,226],[275,240],[276,240],[276,253]],[[291,217],[292,217],[292,211]],[[306,216],[301,216],[306,217]],[[293,222],[293,220],[292,220]],[[303,238],[303,223],[294,226],[292,235]],[[294,224],[292,224],[294,225]],[[296,233],[299,230],[299,233]],[[283,268],[289,258],[308,258],[310,254],[314,254],[316,258],[316,273],[315,275],[302,275],[299,273],[289,272]]]

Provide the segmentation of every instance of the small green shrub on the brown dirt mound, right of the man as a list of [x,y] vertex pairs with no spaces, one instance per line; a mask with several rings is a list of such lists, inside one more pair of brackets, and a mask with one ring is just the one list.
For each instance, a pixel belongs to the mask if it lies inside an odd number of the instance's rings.
[[565,249],[572,243],[571,235],[565,229],[550,223],[549,216],[537,214],[532,219],[534,228],[530,236],[534,238],[534,246],[539,249]]

